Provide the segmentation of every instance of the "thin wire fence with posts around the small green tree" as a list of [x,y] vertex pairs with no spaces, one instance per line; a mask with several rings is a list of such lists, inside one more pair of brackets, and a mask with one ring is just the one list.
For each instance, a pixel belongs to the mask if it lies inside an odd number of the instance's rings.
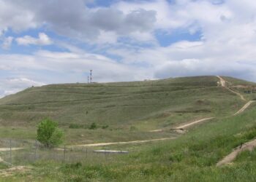
[[108,162],[114,156],[116,154],[96,152],[87,147],[59,146],[55,149],[46,149],[38,141],[0,139],[0,162],[7,165],[28,165],[38,161],[93,162],[95,164]]

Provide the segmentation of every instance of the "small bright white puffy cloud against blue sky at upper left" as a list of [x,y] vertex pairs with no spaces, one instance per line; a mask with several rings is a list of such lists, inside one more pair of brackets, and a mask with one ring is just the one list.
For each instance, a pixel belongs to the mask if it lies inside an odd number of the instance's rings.
[[23,36],[15,39],[18,44],[20,45],[29,45],[29,44],[34,44],[34,45],[49,45],[52,44],[52,41],[46,35],[45,33],[39,33],[38,39],[31,37],[31,36]]

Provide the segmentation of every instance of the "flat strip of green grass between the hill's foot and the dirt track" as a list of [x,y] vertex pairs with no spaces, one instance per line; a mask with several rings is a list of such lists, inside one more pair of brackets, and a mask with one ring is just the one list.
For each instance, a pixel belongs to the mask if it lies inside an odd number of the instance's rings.
[[[86,144],[86,143],[105,143],[105,142],[119,142],[119,141],[143,141],[155,138],[169,138],[176,136],[175,132],[148,132],[142,130],[130,130],[120,128],[108,129],[70,129],[62,128],[64,130],[64,144]],[[0,138],[13,141],[20,141],[18,146],[23,145],[23,141],[33,143],[37,135],[36,127],[0,127]],[[1,140],[0,140],[1,141]],[[0,147],[9,147],[9,143],[0,142]]]

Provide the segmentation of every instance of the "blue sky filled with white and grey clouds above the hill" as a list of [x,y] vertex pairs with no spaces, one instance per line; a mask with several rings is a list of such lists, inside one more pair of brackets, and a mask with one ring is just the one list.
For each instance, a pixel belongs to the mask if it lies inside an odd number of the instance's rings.
[[44,84],[256,82],[255,0],[0,0],[0,98]]

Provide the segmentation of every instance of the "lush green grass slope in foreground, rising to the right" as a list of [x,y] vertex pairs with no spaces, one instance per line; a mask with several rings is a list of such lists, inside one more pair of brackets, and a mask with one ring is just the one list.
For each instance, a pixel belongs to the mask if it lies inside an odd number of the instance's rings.
[[[256,154],[242,153],[233,165],[216,167],[233,148],[256,137],[256,108],[192,128],[174,141],[138,144],[129,155],[97,163],[36,162],[35,181],[255,181]],[[129,149],[111,146],[111,149]],[[134,150],[134,148],[136,148]],[[26,175],[3,178],[26,180]]]

